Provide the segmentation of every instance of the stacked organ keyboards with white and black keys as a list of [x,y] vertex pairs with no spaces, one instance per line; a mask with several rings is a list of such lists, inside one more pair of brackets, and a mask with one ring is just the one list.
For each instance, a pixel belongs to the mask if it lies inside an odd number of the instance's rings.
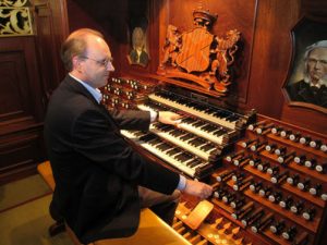
[[153,155],[192,179],[204,179],[219,166],[221,154],[240,136],[244,117],[213,105],[160,90],[137,105],[140,110],[173,111],[179,126],[155,122],[149,132],[121,131]]

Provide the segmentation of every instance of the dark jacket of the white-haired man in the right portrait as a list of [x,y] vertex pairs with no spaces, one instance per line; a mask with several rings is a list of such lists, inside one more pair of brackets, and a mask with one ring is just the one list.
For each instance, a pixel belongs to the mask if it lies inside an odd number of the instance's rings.
[[288,91],[292,100],[314,103],[327,107],[327,87],[322,85],[316,91],[303,79],[288,86]]

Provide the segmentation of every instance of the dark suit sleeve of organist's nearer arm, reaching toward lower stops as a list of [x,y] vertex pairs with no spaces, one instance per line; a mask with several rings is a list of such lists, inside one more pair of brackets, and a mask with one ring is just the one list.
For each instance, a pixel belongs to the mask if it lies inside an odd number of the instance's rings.
[[146,161],[129,146],[114,123],[97,110],[87,110],[77,117],[72,136],[74,149],[90,163],[125,181],[166,194],[178,185],[179,174]]

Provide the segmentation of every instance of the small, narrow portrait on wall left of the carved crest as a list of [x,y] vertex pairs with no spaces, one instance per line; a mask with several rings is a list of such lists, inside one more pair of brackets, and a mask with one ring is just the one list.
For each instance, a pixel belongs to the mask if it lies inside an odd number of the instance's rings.
[[148,49],[148,1],[130,1],[129,37],[130,50],[126,54],[130,64],[147,66]]

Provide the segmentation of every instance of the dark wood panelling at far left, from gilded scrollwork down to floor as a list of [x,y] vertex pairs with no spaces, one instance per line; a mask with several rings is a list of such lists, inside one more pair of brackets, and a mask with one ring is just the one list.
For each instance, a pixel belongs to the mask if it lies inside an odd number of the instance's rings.
[[45,159],[44,94],[34,37],[0,38],[0,180],[36,172]]

